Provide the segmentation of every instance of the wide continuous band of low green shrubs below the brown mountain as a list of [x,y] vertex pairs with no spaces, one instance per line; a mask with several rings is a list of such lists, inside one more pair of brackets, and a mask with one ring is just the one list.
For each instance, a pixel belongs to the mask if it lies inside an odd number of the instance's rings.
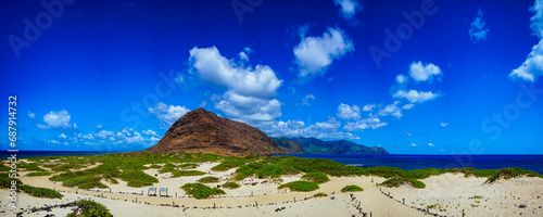
[[[29,163],[17,164],[17,167],[33,170],[29,176],[48,176],[49,171],[43,168],[51,168],[51,171],[62,171],[62,174],[50,177],[50,180],[62,181],[67,187],[78,188],[106,188],[101,181],[105,179],[111,183],[118,183],[117,179],[126,180],[127,186],[143,187],[156,183],[157,180],[142,173],[143,169],[156,168],[161,173],[172,173],[173,177],[181,176],[203,176],[205,173],[194,169],[199,163],[220,162],[212,170],[225,171],[236,168],[232,174],[233,181],[243,180],[248,177],[268,178],[272,183],[281,183],[281,176],[305,174],[303,180],[312,181],[316,184],[326,182],[329,176],[378,176],[389,180],[383,186],[401,186],[409,183],[416,188],[425,188],[421,179],[430,176],[438,176],[445,173],[462,173],[465,177],[485,177],[487,183],[492,183],[497,179],[510,179],[519,176],[542,177],[540,174],[521,168],[504,169],[481,169],[471,167],[465,168],[426,168],[415,170],[404,170],[395,167],[371,167],[362,168],[356,166],[345,166],[331,159],[321,158],[300,158],[295,156],[274,156],[260,157],[255,155],[245,157],[224,157],[201,153],[157,153],[148,154],[140,152],[116,153],[98,156],[48,156],[29,157]],[[90,169],[80,168],[100,164]],[[149,167],[146,165],[150,165]],[[160,166],[164,165],[164,166]],[[9,170],[10,167],[0,165],[0,170]],[[9,182],[9,181],[4,181]]]

